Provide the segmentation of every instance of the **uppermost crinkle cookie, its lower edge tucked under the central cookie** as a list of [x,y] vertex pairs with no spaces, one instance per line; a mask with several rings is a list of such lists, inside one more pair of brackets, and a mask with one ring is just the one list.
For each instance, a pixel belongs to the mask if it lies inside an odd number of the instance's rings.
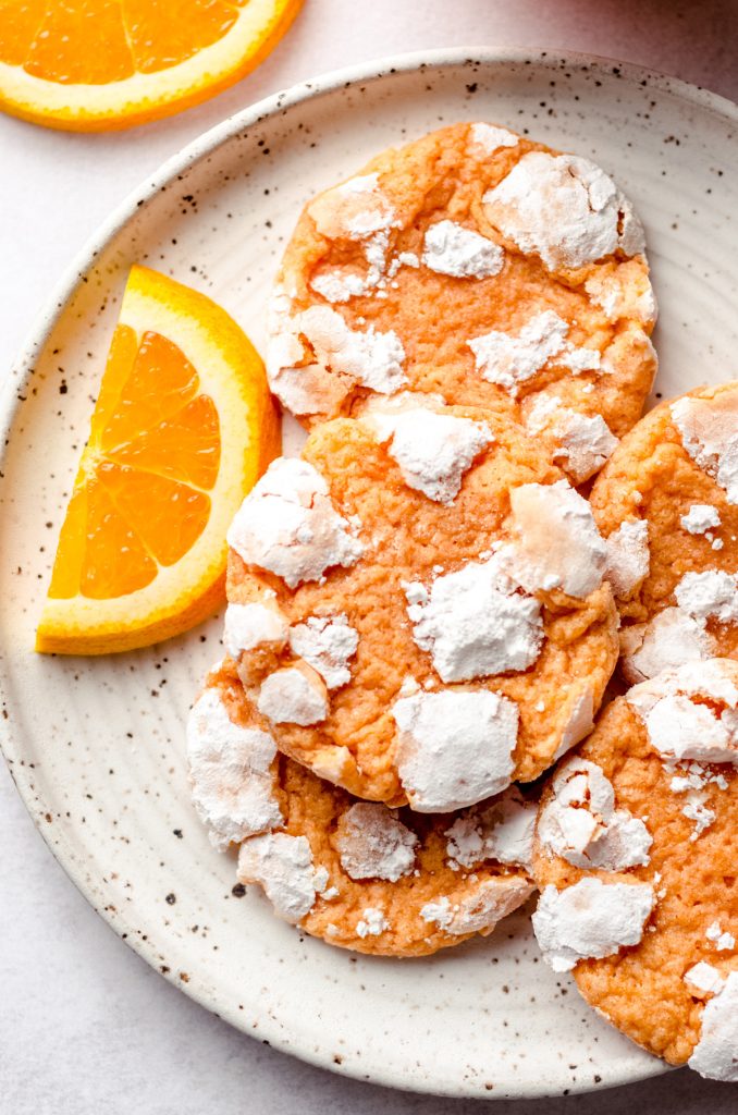
[[641,414],[654,320],[643,232],[611,178],[458,124],[308,203],[266,366],[305,425],[406,389],[503,407],[580,484]]

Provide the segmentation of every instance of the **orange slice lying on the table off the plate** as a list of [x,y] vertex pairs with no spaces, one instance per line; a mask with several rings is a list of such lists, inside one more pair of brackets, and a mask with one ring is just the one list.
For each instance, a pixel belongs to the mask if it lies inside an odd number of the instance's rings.
[[239,81],[302,0],[0,0],[0,108],[75,132],[145,124]]

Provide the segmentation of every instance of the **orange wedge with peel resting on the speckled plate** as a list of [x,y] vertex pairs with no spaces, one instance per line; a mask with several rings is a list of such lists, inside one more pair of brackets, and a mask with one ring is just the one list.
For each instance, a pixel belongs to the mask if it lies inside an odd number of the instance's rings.
[[130,271],[36,649],[103,655],[223,601],[225,532],[280,450],[262,361],[204,294]]

